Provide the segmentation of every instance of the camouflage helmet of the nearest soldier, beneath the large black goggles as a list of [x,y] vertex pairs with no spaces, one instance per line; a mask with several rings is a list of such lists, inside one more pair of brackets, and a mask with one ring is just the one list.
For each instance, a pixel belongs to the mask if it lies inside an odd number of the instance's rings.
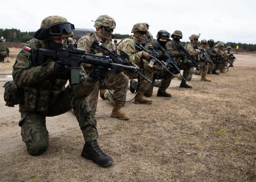
[[[65,23],[65,22],[67,22],[67,23]],[[57,16],[57,15],[48,16],[45,19],[43,19],[41,22],[40,28],[49,29],[49,27],[53,27],[52,25],[57,25],[57,24],[59,24],[59,25],[70,24],[70,26],[71,26],[70,31],[72,31],[74,29],[74,25],[72,27],[72,24],[68,23],[66,18],[64,18],[62,16]],[[53,29],[54,29],[54,27],[53,27]],[[66,28],[63,28],[63,29],[66,30]],[[63,29],[62,29],[62,31],[63,31]],[[50,31],[50,29],[48,31]],[[51,40],[54,38],[63,38],[63,37],[72,37],[72,36],[73,36],[73,32],[68,33],[66,30],[66,32],[62,32],[61,34],[56,34],[56,35],[50,34],[50,36],[48,36],[44,41]]]

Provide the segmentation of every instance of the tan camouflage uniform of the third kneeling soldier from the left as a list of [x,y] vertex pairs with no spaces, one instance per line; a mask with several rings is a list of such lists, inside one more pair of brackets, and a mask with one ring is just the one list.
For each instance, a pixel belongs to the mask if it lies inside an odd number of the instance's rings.
[[[142,59],[141,51],[135,48],[136,42],[137,40],[134,35],[132,35],[129,38],[125,38],[117,46],[118,54],[121,53],[121,50],[124,50],[126,53],[128,53],[130,55],[130,59],[128,61],[135,63],[140,68],[143,68],[142,74],[147,79],[152,80],[154,69],[148,66],[148,62],[146,60]],[[137,74],[134,72],[124,70],[124,74],[126,74],[129,77],[129,79],[137,79]],[[140,91],[146,92],[149,86],[150,83],[146,81],[144,78],[141,78]],[[137,82],[134,82],[132,87],[136,90]]]

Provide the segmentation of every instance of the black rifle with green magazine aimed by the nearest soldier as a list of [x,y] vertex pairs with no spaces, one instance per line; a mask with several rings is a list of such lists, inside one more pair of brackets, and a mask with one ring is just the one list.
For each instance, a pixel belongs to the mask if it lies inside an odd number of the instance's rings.
[[45,57],[58,58],[60,60],[68,60],[70,62],[71,69],[71,84],[80,83],[79,81],[79,70],[81,63],[93,64],[96,66],[106,66],[110,69],[115,67],[137,71],[137,67],[125,66],[122,64],[116,64],[109,59],[108,56],[97,56],[92,54],[85,54],[85,50],[78,49],[77,44],[69,43],[67,49],[39,49],[39,62],[42,62]]

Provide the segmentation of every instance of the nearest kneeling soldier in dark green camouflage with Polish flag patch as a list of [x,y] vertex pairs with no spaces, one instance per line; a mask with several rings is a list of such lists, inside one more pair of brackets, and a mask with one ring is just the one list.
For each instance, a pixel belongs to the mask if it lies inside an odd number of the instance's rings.
[[24,102],[19,104],[22,140],[29,154],[43,154],[49,143],[46,116],[57,116],[73,108],[85,141],[82,157],[108,166],[113,161],[97,143],[97,121],[86,98],[98,84],[95,75],[100,71],[104,78],[105,68],[97,68],[94,74],[87,76],[81,67],[80,83],[65,87],[70,79],[69,60],[44,57],[39,61],[39,48],[66,48],[67,38],[73,36],[73,30],[74,25],[66,18],[49,16],[42,20],[35,39],[30,40],[17,56],[12,76],[17,87],[23,90]]

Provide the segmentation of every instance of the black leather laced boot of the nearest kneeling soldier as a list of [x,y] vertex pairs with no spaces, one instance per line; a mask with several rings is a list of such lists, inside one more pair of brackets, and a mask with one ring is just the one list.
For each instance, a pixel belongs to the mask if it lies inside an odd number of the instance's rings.
[[85,159],[90,159],[99,166],[109,166],[113,160],[100,149],[97,140],[88,141],[83,146],[81,156]]

